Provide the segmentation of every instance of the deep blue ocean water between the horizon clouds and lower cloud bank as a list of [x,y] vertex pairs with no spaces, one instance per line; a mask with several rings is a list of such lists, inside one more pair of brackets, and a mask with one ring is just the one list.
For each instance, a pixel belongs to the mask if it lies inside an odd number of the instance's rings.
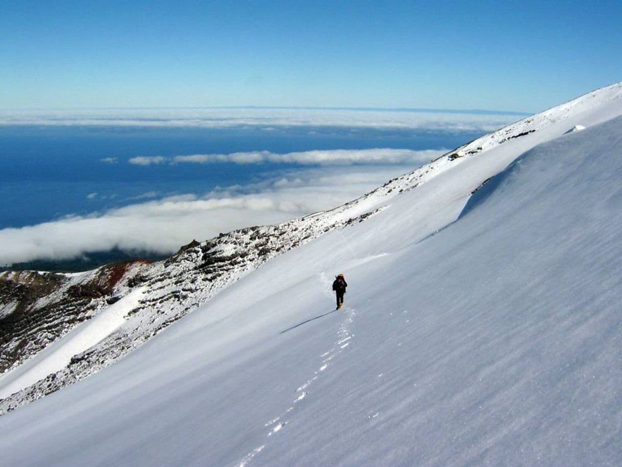
[[[88,215],[141,199],[253,184],[291,164],[128,164],[130,158],[247,151],[453,148],[476,131],[343,128],[0,126],[0,229]],[[104,163],[102,159],[116,159]],[[413,167],[414,168],[414,167]]]

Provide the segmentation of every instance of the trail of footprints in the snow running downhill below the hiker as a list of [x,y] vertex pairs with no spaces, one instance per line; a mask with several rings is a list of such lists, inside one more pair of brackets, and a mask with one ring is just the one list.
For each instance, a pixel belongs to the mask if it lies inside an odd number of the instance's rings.
[[[281,432],[281,430],[289,423],[289,420],[283,420],[284,417],[288,416],[295,408],[295,405],[300,403],[302,400],[309,395],[309,387],[313,384],[315,380],[320,377],[322,372],[328,369],[328,367],[332,366],[334,363],[332,360],[337,357],[341,352],[343,352],[346,347],[351,343],[351,339],[354,337],[354,334],[350,333],[350,324],[354,322],[354,317],[356,316],[355,309],[348,309],[346,311],[346,316],[337,331],[337,341],[333,344],[333,346],[327,352],[323,352],[320,355],[322,359],[322,364],[320,367],[313,372],[313,377],[304,382],[304,384],[300,385],[296,390],[297,396],[295,399],[288,404],[287,409],[281,413],[278,417],[272,418],[269,422],[264,423],[264,427],[269,428],[269,432],[266,433],[266,437],[269,438],[272,435],[276,435],[276,433]],[[375,417],[375,415],[374,415]],[[236,465],[238,467],[246,467],[254,458],[254,456],[258,455],[264,448],[266,444],[262,444],[254,448],[251,452],[249,452],[246,456],[244,456],[243,460],[239,461]]]

